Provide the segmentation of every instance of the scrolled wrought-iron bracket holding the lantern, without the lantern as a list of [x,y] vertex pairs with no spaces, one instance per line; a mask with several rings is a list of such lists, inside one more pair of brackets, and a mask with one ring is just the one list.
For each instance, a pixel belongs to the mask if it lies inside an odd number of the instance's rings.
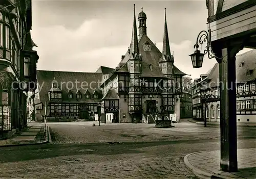
[[210,44],[210,36],[206,31],[201,31],[197,36],[197,43],[194,45],[194,48],[198,50],[199,44],[203,46],[206,43],[205,49],[203,50],[203,54],[207,54],[209,59],[215,58],[214,52],[212,52],[211,44]]

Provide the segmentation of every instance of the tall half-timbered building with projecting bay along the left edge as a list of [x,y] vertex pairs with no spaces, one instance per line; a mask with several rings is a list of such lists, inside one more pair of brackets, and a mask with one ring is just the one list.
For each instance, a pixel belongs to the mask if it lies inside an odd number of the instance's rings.
[[31,11],[31,0],[0,3],[0,138],[8,138],[27,125],[27,84],[38,60],[32,50]]

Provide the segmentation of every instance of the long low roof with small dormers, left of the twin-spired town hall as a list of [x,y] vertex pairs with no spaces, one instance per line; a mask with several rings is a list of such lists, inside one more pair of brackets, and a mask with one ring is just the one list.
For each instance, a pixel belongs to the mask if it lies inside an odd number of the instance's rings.
[[[98,84],[102,79],[102,73],[37,70],[37,82],[41,87],[39,97],[42,104],[45,104],[45,101],[47,101],[47,103],[49,102],[48,92],[52,88],[53,79],[58,82],[58,87],[62,91],[62,101],[64,103],[97,103],[102,97],[102,92],[98,87]],[[72,83],[74,84],[74,88],[69,90],[69,88],[72,87]],[[82,94],[82,98],[80,99],[77,99],[75,96],[78,90]],[[74,95],[71,99],[68,98],[69,91]],[[99,95],[98,99],[92,98],[93,96],[91,96],[90,99],[86,99],[84,93],[87,91],[90,92],[91,95],[97,93]]]

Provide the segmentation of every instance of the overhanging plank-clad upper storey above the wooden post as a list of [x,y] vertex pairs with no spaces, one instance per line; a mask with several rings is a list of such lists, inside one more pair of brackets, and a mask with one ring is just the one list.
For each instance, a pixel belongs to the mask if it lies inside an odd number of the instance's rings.
[[206,6],[211,42],[243,35],[248,38],[245,47],[256,47],[255,0],[207,0]]

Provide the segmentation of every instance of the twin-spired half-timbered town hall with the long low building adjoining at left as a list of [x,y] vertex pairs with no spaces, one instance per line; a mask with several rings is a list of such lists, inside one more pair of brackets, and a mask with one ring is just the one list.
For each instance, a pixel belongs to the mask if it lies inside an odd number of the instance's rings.
[[[47,120],[63,121],[98,113],[102,122],[120,123],[143,122],[148,115],[168,120],[169,114],[176,113],[178,121],[185,116],[188,105],[181,107],[181,103],[189,103],[189,93],[182,91],[186,74],[174,65],[166,17],[162,53],[147,36],[146,19],[141,11],[137,34],[134,10],[132,41],[115,69],[101,66],[95,73],[37,70],[36,120],[40,121],[42,114]],[[71,87],[75,80],[78,88]],[[68,81],[70,86],[63,86]],[[82,88],[81,83],[89,84],[88,88]]]

